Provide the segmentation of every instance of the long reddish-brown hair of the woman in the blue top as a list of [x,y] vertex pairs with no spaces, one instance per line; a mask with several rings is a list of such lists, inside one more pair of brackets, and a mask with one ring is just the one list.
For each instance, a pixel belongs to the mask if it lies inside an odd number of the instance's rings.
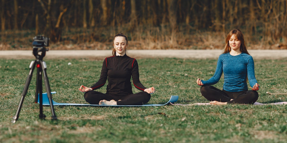
[[231,47],[229,46],[229,39],[231,38],[231,36],[234,35],[235,38],[237,38],[241,44],[240,44],[240,51],[242,53],[246,53],[248,55],[250,55],[246,49],[246,42],[245,42],[245,39],[244,39],[244,36],[243,36],[243,33],[237,28],[237,29],[233,29],[231,30],[226,39],[225,39],[225,49],[224,49],[224,52],[223,53],[229,53],[231,51]]

